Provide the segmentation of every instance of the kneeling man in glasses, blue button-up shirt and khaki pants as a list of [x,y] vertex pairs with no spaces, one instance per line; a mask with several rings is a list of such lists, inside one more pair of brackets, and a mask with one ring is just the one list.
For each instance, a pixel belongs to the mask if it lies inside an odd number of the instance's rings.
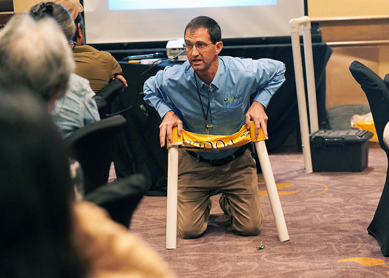
[[[144,84],[144,100],[162,123],[160,146],[184,128],[197,134],[231,135],[250,120],[258,137],[267,139],[265,107],[283,84],[285,66],[271,59],[219,57],[221,29],[210,17],[195,17],[184,31],[188,61],[160,70]],[[255,95],[250,104],[250,96]],[[222,191],[219,204],[233,229],[256,236],[263,224],[255,160],[247,145],[219,152],[179,150],[177,228],[184,239],[207,229],[212,190]]]

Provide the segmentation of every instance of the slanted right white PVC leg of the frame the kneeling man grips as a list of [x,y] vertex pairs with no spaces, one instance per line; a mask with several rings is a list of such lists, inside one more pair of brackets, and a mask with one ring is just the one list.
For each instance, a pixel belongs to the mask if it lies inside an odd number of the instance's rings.
[[280,197],[278,196],[276,182],[274,180],[273,171],[271,170],[265,141],[255,142],[255,148],[261,164],[262,174],[264,175],[267,195],[269,196],[271,210],[273,211],[274,220],[276,222],[278,238],[282,242],[288,241],[288,229],[286,228],[285,218],[283,217],[283,209],[281,208]]

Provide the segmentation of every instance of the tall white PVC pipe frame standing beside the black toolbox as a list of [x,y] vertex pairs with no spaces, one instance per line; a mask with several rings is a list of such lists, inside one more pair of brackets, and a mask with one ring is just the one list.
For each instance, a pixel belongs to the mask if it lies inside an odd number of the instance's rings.
[[304,168],[306,173],[312,173],[311,147],[309,143],[309,125],[307,117],[307,105],[305,102],[304,76],[302,73],[302,59],[300,48],[299,28],[302,25],[302,37],[304,44],[305,74],[307,78],[309,122],[311,133],[318,127],[318,107],[316,102],[315,73],[313,66],[311,20],[309,17],[292,18],[289,21],[292,39],[293,64],[295,69],[297,103],[299,105],[300,132],[302,154],[304,156]]

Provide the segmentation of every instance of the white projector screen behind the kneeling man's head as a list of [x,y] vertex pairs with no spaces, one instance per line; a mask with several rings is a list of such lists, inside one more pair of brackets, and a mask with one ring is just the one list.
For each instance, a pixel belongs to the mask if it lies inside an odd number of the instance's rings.
[[304,16],[304,0],[84,0],[86,42],[168,41],[183,37],[194,17],[209,16],[222,38],[288,36]]

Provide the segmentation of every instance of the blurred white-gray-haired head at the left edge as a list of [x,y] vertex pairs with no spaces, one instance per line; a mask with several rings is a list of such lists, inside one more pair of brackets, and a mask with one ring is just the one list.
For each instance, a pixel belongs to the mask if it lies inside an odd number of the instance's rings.
[[27,87],[50,101],[65,93],[74,67],[69,42],[53,19],[15,15],[0,30],[0,85]]

